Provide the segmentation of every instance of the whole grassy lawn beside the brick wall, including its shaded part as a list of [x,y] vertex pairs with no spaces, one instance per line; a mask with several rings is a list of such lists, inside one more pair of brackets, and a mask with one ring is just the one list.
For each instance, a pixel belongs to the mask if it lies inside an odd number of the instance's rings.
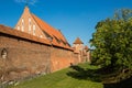
[[110,82],[106,78],[109,79],[111,74],[101,73],[103,72],[100,72],[99,67],[85,63],[32,80],[21,81],[8,88],[132,88],[132,77],[119,82]]

